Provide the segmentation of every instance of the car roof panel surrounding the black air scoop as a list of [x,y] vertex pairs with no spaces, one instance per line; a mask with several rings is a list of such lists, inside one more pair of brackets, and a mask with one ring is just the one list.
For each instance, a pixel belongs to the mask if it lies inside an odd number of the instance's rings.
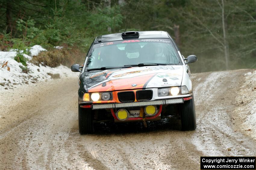
[[[135,31],[134,31],[135,32]],[[106,34],[101,35],[95,38],[95,43],[102,43],[107,41],[116,41],[116,40],[123,40],[123,39],[135,39],[135,38],[170,38],[169,34],[166,31],[136,31],[139,33],[139,37],[122,37],[122,33],[115,33],[115,34]]]

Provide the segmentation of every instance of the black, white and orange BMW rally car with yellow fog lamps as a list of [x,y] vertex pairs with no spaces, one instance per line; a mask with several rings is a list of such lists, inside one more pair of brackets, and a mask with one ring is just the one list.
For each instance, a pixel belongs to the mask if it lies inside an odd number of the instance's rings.
[[182,130],[195,130],[195,105],[187,64],[165,31],[128,31],[95,38],[80,72],[80,134],[95,122],[156,121],[176,117]]

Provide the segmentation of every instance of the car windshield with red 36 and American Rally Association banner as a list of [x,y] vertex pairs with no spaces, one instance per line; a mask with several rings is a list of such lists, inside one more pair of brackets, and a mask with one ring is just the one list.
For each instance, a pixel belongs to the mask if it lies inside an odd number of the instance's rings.
[[182,65],[170,39],[135,39],[95,44],[89,54],[87,69],[123,67],[140,63]]

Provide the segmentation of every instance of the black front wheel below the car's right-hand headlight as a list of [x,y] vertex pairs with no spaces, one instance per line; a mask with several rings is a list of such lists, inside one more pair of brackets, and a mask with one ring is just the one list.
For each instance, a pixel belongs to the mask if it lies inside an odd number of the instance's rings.
[[181,130],[195,130],[196,118],[194,97],[184,101],[184,103],[180,105],[180,118]]

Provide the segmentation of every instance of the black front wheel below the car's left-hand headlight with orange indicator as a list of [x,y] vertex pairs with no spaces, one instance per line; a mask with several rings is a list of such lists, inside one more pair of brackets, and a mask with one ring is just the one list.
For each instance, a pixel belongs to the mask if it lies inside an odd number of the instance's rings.
[[92,109],[81,108],[78,104],[78,129],[79,133],[93,133],[93,112]]

